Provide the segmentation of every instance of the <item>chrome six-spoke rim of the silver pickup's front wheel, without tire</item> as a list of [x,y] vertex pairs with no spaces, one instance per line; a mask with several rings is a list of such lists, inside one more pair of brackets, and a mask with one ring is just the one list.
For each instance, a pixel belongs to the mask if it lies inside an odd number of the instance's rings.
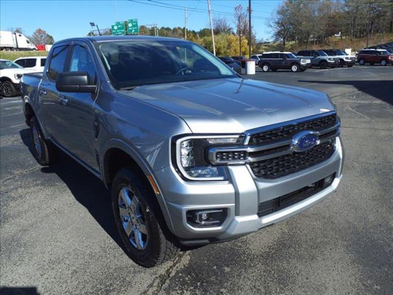
[[147,245],[147,225],[142,206],[136,194],[123,187],[118,197],[120,220],[131,245],[143,250]]

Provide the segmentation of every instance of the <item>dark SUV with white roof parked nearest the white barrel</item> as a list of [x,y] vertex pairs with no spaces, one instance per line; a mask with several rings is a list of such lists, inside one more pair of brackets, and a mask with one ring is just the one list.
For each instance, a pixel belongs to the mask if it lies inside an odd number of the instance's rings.
[[291,52],[264,52],[259,59],[262,71],[276,71],[278,69],[291,69],[292,72],[305,71],[311,65],[310,59],[299,59]]

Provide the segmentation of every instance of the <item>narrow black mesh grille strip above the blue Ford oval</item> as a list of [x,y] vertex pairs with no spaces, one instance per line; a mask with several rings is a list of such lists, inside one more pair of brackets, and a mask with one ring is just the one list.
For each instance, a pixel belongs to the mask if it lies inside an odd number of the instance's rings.
[[336,115],[329,115],[309,121],[285,125],[276,129],[253,134],[250,137],[249,145],[261,146],[272,144],[284,140],[289,140],[293,135],[304,130],[320,131],[333,127],[336,124]]

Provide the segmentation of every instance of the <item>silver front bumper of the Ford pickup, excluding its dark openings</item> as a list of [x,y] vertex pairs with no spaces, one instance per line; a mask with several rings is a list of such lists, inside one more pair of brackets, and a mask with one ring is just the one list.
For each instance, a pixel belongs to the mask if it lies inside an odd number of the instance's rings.
[[[229,180],[188,182],[173,167],[156,171],[165,198],[167,224],[186,245],[225,241],[258,231],[317,204],[338,186],[342,177],[344,151],[336,138],[333,155],[308,169],[274,180],[255,179],[247,166],[228,166]],[[260,203],[278,198],[335,174],[332,184],[314,195],[271,214],[258,216]],[[217,227],[195,227],[187,222],[187,211],[225,208],[225,221]],[[169,220],[168,220],[169,219]]]

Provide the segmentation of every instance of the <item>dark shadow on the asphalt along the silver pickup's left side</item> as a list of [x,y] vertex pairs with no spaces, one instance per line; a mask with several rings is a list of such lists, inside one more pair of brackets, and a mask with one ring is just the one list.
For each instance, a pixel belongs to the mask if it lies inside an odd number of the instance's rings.
[[[29,129],[21,130],[20,136],[31,153],[33,149]],[[61,153],[59,161],[55,165],[42,167],[41,171],[55,173],[60,177],[74,198],[89,211],[91,216],[124,251],[114,223],[111,194],[99,178],[64,153]]]

